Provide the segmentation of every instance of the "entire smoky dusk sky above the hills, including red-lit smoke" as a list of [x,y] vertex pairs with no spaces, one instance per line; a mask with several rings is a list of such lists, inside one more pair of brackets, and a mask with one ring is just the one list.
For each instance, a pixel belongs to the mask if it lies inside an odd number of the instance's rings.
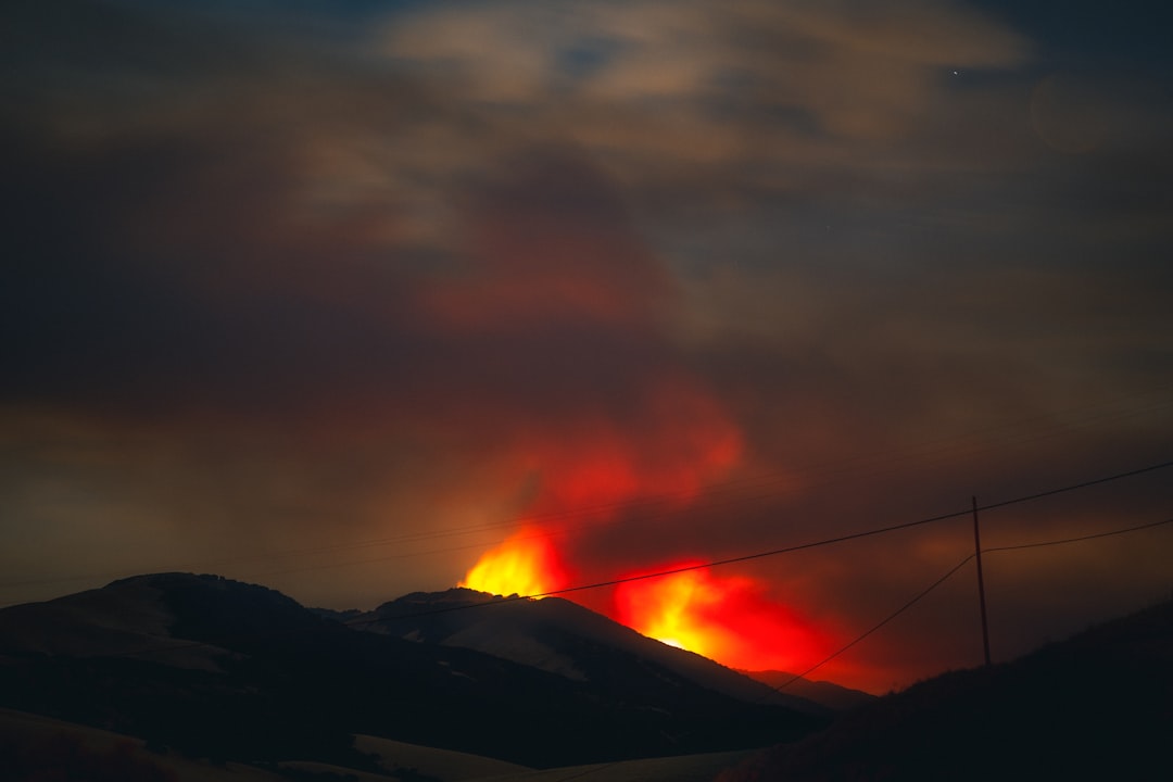
[[[0,604],[182,570],[368,608],[534,546],[561,589],[1173,460],[1161,14],[9,4]],[[1171,477],[982,543],[1164,521]],[[963,514],[682,589],[757,644],[727,664],[794,669],[972,550]],[[1171,557],[990,552],[994,658],[1169,597]],[[657,583],[568,597],[637,621]],[[970,562],[815,678],[981,660]]]

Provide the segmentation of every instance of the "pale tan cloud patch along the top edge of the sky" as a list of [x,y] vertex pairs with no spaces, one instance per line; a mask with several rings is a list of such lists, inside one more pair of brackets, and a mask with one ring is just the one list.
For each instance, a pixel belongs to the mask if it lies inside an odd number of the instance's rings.
[[[396,19],[386,47],[468,100],[522,106],[531,122],[575,125],[605,107],[638,135],[680,111],[677,130],[698,142],[730,127],[785,131],[793,117],[845,140],[908,134],[940,96],[942,69],[1011,68],[1026,52],[958,4],[754,0],[543,4],[536,16],[508,2],[445,6]],[[605,148],[592,134],[606,130],[588,125],[577,137]],[[792,159],[785,144],[724,149],[724,162]]]

